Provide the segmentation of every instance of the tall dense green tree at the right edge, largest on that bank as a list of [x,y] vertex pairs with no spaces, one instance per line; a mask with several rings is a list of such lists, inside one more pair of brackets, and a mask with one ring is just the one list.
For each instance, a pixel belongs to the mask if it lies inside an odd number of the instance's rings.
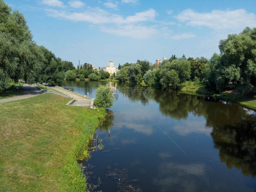
[[256,28],[246,27],[240,34],[221,40],[221,54],[211,59],[208,86],[222,91],[230,83],[243,94],[256,85]]

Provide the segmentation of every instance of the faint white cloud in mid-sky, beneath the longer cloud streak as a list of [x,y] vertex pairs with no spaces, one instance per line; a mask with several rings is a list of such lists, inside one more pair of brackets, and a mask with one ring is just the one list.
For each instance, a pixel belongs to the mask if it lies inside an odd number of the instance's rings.
[[146,39],[152,35],[157,34],[157,29],[148,26],[135,26],[135,25],[124,25],[118,28],[106,28],[102,27],[101,30],[106,33],[115,34],[118,36],[127,36],[135,39]]

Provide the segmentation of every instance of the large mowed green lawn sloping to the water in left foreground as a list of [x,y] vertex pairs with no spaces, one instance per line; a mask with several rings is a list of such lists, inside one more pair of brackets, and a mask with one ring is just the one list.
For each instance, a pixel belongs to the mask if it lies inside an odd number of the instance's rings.
[[68,101],[43,94],[0,104],[1,192],[79,191],[76,183],[85,180],[75,153],[81,141],[88,146],[105,111],[67,106]]

